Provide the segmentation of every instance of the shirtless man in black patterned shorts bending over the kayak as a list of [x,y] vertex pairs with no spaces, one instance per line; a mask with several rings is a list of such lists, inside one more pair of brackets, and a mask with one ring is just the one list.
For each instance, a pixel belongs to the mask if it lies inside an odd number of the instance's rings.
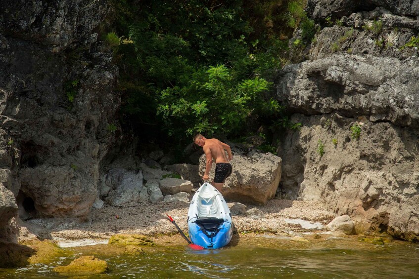
[[[193,137],[193,142],[202,147],[206,156],[205,173],[202,176],[204,181],[209,179],[209,172],[211,170],[212,160],[214,159],[215,166],[215,177],[211,182],[218,192],[222,193],[224,182],[226,178],[232,174],[233,167],[230,164],[230,160],[233,159],[232,150],[229,145],[219,141],[218,139],[207,139],[201,134],[197,134]],[[229,158],[227,158],[227,151]]]

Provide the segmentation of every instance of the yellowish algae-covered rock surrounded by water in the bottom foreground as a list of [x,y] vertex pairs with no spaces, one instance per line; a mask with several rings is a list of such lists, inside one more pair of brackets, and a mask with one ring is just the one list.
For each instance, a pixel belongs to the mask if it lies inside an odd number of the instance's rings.
[[72,261],[68,266],[54,268],[63,276],[86,276],[104,273],[108,268],[105,261],[98,260],[93,256],[82,256]]

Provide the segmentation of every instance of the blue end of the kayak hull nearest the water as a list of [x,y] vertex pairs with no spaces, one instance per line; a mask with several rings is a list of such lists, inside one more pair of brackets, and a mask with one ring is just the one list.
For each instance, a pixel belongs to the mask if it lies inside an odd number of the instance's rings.
[[233,236],[232,224],[224,222],[220,226],[220,230],[215,236],[211,236],[211,232],[206,232],[207,235],[202,231],[200,226],[195,223],[189,224],[189,237],[193,244],[197,244],[204,248],[218,249],[229,244]]

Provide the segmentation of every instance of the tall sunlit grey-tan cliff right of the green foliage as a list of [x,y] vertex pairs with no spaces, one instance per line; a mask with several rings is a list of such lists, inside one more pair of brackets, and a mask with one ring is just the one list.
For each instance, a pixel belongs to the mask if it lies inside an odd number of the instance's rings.
[[396,2],[309,1],[321,28],[310,59],[277,82],[291,122],[302,123],[281,138],[280,190],[348,214],[357,233],[419,240],[419,58],[406,45],[419,6]]

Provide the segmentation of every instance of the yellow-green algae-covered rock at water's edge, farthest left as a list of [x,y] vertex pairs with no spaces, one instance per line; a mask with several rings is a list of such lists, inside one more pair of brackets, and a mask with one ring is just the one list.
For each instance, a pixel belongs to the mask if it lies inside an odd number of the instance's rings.
[[35,250],[35,254],[29,257],[29,264],[49,264],[54,259],[59,257],[67,257],[72,253],[60,248],[56,243],[51,240],[45,239],[44,241],[34,239],[31,241],[25,241],[22,244]]

